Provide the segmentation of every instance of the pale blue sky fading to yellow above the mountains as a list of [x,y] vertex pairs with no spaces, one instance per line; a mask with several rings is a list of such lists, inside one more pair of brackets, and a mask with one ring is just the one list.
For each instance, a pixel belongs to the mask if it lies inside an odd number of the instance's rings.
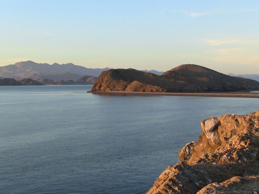
[[0,66],[259,74],[259,1],[0,0]]

